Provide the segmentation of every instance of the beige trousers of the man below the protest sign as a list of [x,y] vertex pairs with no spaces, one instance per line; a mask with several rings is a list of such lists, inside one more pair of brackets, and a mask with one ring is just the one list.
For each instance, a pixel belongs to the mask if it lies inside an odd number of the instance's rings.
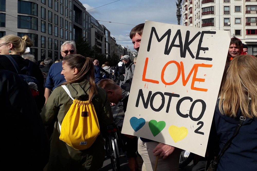
[[[138,139],[137,150],[138,153],[144,160],[142,171],[153,171],[155,166],[156,156],[153,155],[153,149],[159,143],[156,141],[152,142],[142,142],[142,140]],[[159,171],[178,171],[179,169],[179,157],[180,150],[174,150],[166,159],[159,158],[157,170]]]

